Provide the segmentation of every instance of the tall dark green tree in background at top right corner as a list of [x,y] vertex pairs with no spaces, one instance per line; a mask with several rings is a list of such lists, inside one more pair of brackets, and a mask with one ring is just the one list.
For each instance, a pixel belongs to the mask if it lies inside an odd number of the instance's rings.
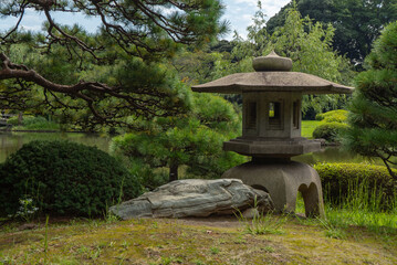
[[[333,47],[345,54],[354,63],[363,63],[370,51],[373,41],[380,34],[383,26],[397,20],[395,0],[295,0],[296,9],[303,17],[314,22],[333,24],[335,35]],[[292,1],[283,7],[267,23],[273,33],[285,23]]]

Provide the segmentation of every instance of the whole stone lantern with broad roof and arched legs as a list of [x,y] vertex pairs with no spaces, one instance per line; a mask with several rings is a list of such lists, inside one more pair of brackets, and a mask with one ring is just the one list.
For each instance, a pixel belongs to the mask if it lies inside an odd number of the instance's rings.
[[305,213],[323,215],[317,172],[291,157],[317,151],[321,144],[301,137],[304,94],[351,94],[353,87],[314,75],[290,72],[292,61],[274,52],[253,59],[253,73],[232,74],[192,87],[195,92],[242,94],[242,136],[223,142],[226,151],[252,157],[250,162],[226,171],[222,178],[241,179],[270,193],[275,209],[293,212],[297,192]]

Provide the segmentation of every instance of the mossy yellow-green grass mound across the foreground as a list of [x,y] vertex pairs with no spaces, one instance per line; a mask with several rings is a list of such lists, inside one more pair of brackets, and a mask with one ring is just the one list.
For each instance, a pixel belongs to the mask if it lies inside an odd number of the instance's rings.
[[0,264],[397,264],[397,233],[351,226],[341,240],[317,220],[271,218],[281,226],[263,233],[236,218],[3,225]]

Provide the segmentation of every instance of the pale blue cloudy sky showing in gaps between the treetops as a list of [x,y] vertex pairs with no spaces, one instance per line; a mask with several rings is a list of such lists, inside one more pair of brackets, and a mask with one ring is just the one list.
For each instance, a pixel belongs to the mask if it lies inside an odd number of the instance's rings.
[[[222,0],[226,6],[226,12],[223,19],[230,22],[230,33],[224,35],[223,39],[230,40],[233,35],[233,31],[237,30],[240,35],[247,35],[247,26],[252,23],[252,17],[258,10],[258,0]],[[268,18],[273,17],[280,11],[280,9],[289,3],[290,0],[262,0],[263,12]],[[9,29],[15,23],[15,19],[0,20],[0,30]],[[32,11],[28,11],[23,18],[22,26],[25,30],[40,30],[43,21],[43,14],[38,14]],[[56,15],[55,21],[58,23],[83,24],[88,31],[95,32],[97,28],[97,20],[86,19],[83,15],[62,14]]]

